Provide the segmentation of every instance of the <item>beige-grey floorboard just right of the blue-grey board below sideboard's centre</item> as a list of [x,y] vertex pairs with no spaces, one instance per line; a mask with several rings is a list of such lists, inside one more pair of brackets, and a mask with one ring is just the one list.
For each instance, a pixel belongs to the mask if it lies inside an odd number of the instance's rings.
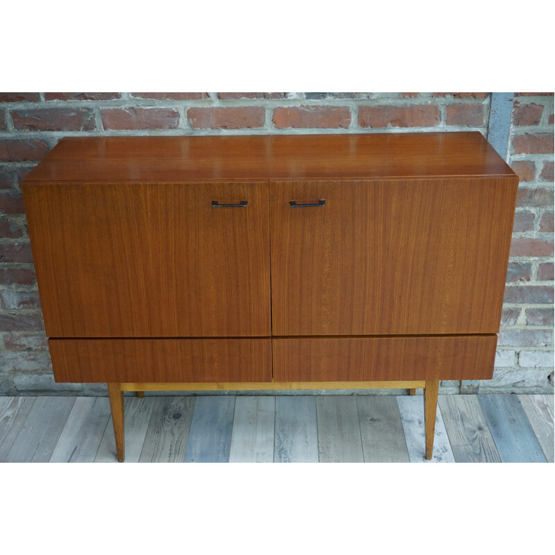
[[318,459],[321,463],[364,462],[355,397],[317,397],[316,417]]

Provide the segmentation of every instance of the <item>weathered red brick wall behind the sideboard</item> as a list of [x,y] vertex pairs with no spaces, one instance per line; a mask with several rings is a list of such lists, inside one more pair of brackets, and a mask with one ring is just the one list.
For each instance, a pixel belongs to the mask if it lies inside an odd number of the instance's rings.
[[[494,379],[480,391],[551,392],[553,94],[516,93],[508,162],[522,183]],[[105,393],[54,384],[19,185],[61,137],[488,134],[489,93],[0,93],[0,394]],[[458,392],[458,382],[443,391]]]

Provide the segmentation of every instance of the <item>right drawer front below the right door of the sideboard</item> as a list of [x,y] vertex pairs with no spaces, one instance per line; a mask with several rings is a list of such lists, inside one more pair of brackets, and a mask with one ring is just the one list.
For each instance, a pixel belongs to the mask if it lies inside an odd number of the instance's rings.
[[273,339],[275,382],[491,379],[497,336]]

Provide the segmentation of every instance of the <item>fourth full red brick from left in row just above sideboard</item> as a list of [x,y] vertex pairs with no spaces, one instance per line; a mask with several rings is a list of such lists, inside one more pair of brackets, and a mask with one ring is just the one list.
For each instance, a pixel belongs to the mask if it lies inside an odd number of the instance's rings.
[[275,108],[272,121],[278,129],[348,128],[351,112],[345,106],[291,106]]

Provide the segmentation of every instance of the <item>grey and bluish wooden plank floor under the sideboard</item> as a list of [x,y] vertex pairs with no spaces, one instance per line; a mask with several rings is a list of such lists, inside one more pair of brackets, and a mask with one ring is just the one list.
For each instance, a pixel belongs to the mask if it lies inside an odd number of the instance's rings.
[[[425,462],[422,395],[126,397],[126,462]],[[553,395],[440,395],[436,463],[553,462]],[[0,462],[116,462],[108,398],[0,397]]]

